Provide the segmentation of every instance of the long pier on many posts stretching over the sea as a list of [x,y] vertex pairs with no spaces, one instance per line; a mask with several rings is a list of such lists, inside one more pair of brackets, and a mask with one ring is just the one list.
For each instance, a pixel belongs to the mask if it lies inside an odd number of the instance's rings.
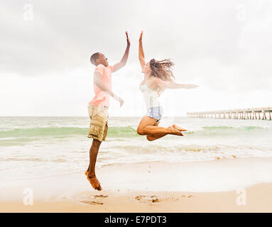
[[271,120],[271,112],[272,106],[249,109],[228,109],[221,111],[187,112],[187,117]]

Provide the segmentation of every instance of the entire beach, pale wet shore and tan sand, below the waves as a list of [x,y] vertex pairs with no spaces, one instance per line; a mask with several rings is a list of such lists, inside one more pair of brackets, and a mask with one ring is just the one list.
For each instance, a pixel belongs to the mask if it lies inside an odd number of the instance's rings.
[[[92,189],[84,172],[6,181],[0,212],[271,212],[272,184],[261,175],[270,163],[249,158],[108,165],[97,170],[101,192]],[[246,168],[263,183],[250,181]],[[33,205],[26,199],[29,190]]]

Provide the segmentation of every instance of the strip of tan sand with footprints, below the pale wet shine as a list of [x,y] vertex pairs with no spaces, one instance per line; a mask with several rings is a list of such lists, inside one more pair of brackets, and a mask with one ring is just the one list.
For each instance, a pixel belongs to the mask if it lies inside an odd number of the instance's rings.
[[272,184],[246,189],[246,205],[236,192],[87,192],[74,199],[1,202],[1,212],[271,212]]

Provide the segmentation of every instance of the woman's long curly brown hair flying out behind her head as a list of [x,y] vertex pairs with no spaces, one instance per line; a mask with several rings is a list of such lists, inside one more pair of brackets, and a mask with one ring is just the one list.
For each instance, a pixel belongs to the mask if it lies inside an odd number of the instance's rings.
[[173,81],[173,79],[175,79],[172,72],[174,63],[170,59],[158,61],[153,58],[149,64],[152,70],[152,76],[158,77],[164,81]]

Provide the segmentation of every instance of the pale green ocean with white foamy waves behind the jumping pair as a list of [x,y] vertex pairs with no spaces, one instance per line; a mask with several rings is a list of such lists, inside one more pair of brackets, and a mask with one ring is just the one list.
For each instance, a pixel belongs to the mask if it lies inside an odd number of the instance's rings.
[[[141,117],[111,117],[97,168],[114,163],[197,162],[272,157],[272,121],[164,117],[185,136],[148,141],[136,133]],[[87,170],[92,139],[88,117],[0,117],[0,181]]]

